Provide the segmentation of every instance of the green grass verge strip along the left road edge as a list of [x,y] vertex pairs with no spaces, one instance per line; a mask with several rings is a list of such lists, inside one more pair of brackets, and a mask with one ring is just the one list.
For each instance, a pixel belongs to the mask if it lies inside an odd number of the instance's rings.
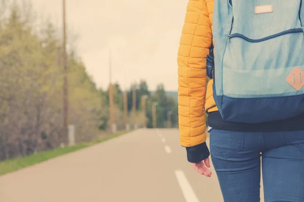
[[64,155],[64,154],[68,154],[71,153],[73,151],[77,151],[80,150],[82,148],[86,148],[88,146],[92,146],[94,144],[97,143],[101,143],[103,141],[109,140],[111,138],[115,138],[118,137],[122,134],[125,134],[126,132],[119,132],[117,134],[114,135],[109,135],[100,139],[96,139],[94,141],[91,142],[81,142],[79,144],[76,144],[74,146],[70,146],[70,147],[57,147],[55,149],[52,150],[47,150],[47,151],[41,151],[37,154],[32,154],[26,157],[19,157],[16,159],[11,159],[11,160],[7,160],[4,162],[0,162],[0,176],[7,174],[7,173],[11,173],[17,170],[20,170],[22,168],[28,167],[28,166],[32,166],[34,164],[37,163],[41,163],[44,161],[47,161],[49,159]]

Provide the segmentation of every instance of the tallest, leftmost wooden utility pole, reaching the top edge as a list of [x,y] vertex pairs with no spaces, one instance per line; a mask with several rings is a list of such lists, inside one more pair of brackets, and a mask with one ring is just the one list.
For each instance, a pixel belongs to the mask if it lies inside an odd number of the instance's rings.
[[63,3],[63,127],[65,135],[68,135],[68,70],[66,59],[66,23],[65,23],[65,0]]

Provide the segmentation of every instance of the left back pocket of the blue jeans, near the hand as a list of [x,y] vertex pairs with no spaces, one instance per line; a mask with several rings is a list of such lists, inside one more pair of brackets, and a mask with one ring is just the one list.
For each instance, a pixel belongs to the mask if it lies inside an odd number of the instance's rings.
[[212,129],[210,131],[210,151],[224,159],[232,157],[243,148],[244,132]]

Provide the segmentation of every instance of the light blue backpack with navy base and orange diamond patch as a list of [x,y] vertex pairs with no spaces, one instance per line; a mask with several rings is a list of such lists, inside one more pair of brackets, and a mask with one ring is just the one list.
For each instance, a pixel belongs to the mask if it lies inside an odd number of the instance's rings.
[[210,63],[207,69],[224,120],[261,123],[304,112],[303,31],[302,0],[214,0],[213,75]]

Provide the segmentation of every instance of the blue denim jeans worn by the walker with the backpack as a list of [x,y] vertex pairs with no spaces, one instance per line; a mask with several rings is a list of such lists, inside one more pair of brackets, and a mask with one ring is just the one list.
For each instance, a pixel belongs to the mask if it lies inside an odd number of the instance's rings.
[[260,201],[261,166],[265,202],[304,202],[304,131],[211,129],[210,151],[225,202]]

